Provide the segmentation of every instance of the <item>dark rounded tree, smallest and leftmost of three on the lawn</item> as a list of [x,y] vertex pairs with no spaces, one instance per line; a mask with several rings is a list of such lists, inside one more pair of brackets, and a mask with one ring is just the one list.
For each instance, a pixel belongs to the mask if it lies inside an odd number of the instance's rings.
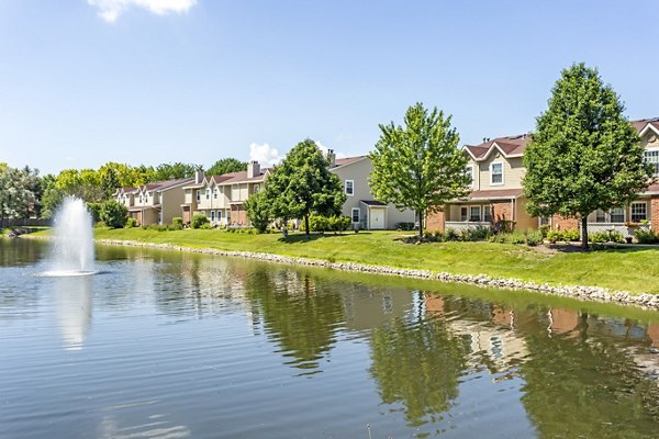
[[309,215],[339,214],[346,201],[338,176],[330,172],[330,162],[311,139],[290,150],[266,180],[265,190],[272,215],[304,218],[308,235]]

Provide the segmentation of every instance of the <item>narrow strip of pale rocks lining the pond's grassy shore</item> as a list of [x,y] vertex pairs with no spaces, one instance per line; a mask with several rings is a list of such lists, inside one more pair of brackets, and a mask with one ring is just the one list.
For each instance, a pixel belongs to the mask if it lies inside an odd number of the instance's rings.
[[414,270],[405,268],[371,266],[355,262],[331,262],[319,259],[293,258],[288,256],[260,254],[254,251],[230,251],[213,248],[189,248],[169,244],[141,243],[134,240],[97,239],[98,244],[113,246],[149,247],[166,250],[188,251],[196,254],[230,256],[238,258],[258,259],[270,262],[291,263],[308,267],[332,268],[335,270],[356,271],[362,273],[388,274],[403,278],[428,279],[442,282],[465,283],[483,288],[498,288],[507,290],[526,290],[543,294],[555,294],[582,301],[611,302],[625,305],[636,305],[645,308],[659,309],[659,295],[650,293],[632,294],[626,291],[612,291],[601,286],[584,285],[549,285],[547,283],[525,282],[518,279],[492,278],[487,274],[451,274],[436,273],[428,270]]

